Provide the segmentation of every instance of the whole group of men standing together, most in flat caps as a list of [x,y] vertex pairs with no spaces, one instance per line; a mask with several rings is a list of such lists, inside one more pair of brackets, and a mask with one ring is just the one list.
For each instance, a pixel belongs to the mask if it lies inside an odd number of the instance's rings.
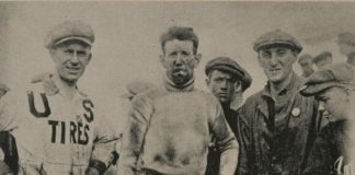
[[[55,71],[26,93],[10,91],[0,101],[0,130],[11,140],[0,172],[102,175],[112,165],[117,136],[77,86],[92,59],[94,33],[69,21],[47,38]],[[243,104],[252,78],[231,58],[206,65],[210,93],[194,86],[202,55],[193,28],[170,27],[160,44],[162,84],[140,84],[128,96],[118,175],[354,174],[352,43],[340,42],[347,63],[320,69],[306,81],[293,70],[302,50],[296,37],[279,30],[260,36],[253,49],[267,82]],[[332,119],[323,117],[322,106]]]

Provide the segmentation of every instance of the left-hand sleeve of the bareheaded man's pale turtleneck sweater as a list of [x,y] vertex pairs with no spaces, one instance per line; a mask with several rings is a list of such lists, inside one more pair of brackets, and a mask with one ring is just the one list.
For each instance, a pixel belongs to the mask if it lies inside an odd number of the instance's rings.
[[117,175],[135,175],[139,171],[139,156],[152,114],[148,98],[138,95],[131,103],[128,125],[123,133]]

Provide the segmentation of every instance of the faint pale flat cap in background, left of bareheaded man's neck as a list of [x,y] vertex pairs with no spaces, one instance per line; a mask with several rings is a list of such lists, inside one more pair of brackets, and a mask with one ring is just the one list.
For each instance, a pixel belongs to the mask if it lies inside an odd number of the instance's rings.
[[128,93],[123,94],[121,97],[131,98],[135,95],[142,93],[145,91],[148,91],[154,86],[156,86],[154,84],[149,83],[149,82],[134,81],[126,85]]

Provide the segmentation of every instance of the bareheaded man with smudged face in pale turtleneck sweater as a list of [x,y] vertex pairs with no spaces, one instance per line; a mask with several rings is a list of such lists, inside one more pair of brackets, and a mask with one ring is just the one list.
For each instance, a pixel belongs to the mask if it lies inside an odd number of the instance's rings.
[[204,175],[210,137],[217,140],[220,175],[232,175],[238,142],[218,100],[194,88],[198,37],[173,26],[160,38],[163,84],[133,98],[123,135],[118,175]]

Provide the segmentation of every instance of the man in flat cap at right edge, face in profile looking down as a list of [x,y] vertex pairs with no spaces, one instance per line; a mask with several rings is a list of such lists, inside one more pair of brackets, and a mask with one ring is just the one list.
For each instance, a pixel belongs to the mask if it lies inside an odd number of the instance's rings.
[[[331,114],[320,131],[308,161],[306,175],[354,175],[351,148],[354,127],[355,69],[348,63],[332,65],[312,74],[300,93],[316,98]],[[353,139],[354,140],[354,139]],[[354,142],[355,143],[355,142]],[[354,159],[354,158],[353,158]],[[351,173],[352,172],[352,173]]]

